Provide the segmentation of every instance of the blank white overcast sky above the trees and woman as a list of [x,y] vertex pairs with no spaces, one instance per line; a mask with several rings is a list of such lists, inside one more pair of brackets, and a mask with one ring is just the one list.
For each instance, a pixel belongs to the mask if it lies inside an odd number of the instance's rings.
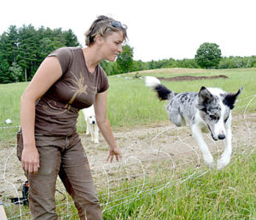
[[128,26],[133,59],[193,59],[202,43],[217,43],[223,56],[256,55],[255,0],[8,0],[0,8],[0,34],[32,24],[84,32],[98,15]]

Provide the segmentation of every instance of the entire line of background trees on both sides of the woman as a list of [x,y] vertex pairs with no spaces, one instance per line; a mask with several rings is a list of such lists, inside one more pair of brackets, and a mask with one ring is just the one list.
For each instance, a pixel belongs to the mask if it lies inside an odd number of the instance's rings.
[[[55,49],[81,46],[71,29],[67,31],[41,26],[9,26],[0,35],[0,84],[24,82],[32,79],[40,63]],[[133,60],[133,48],[125,44],[115,62],[102,61],[108,75],[158,68],[247,68],[256,67],[256,55],[249,57],[222,57],[216,43],[203,43],[197,49],[195,59],[160,61]]]

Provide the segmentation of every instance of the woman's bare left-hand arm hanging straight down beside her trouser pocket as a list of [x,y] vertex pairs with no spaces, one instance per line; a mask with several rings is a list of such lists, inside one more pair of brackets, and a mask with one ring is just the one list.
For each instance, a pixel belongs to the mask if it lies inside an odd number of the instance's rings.
[[39,155],[35,144],[35,103],[61,77],[61,64],[56,57],[46,58],[20,98],[20,124],[24,149],[21,165],[25,171],[37,172]]

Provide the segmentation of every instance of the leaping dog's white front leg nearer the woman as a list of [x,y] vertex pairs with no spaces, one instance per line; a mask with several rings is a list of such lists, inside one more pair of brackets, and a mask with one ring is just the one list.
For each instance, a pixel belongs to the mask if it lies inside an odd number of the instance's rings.
[[207,143],[204,141],[201,127],[199,127],[197,124],[194,124],[191,126],[191,130],[193,133],[193,136],[195,137],[195,141],[199,145],[199,148],[201,149],[201,153],[203,155],[203,159],[205,160],[205,164],[209,168],[214,168],[214,160],[212,157],[212,153],[210,152]]

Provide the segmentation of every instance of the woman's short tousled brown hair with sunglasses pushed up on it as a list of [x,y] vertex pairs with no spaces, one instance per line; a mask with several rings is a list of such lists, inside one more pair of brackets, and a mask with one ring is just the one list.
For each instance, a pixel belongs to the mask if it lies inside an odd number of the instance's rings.
[[85,32],[85,45],[90,46],[95,42],[97,35],[107,37],[112,32],[123,32],[124,40],[127,38],[127,26],[122,25],[119,21],[113,20],[105,15],[100,15]]

